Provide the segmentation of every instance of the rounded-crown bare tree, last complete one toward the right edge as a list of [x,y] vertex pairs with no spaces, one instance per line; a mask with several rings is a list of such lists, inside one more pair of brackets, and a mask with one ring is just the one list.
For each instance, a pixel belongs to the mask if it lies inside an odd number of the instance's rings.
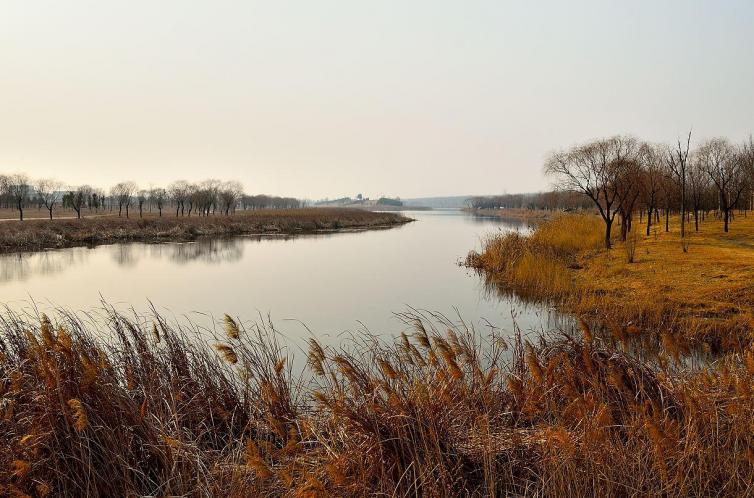
[[702,144],[697,154],[701,168],[717,188],[723,214],[723,230],[727,232],[730,211],[747,186],[745,149],[738,151],[727,139],[714,138]]

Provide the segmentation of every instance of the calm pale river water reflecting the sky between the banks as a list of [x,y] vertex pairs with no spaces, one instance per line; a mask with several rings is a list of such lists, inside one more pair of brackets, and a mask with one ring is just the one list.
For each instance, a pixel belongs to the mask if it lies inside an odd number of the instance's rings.
[[[394,312],[408,307],[460,314],[512,329],[545,326],[540,307],[488,295],[480,278],[458,266],[485,234],[523,225],[460,211],[409,212],[415,223],[390,230],[330,235],[235,238],[192,243],[117,244],[0,256],[0,295],[15,310],[33,302],[88,311],[100,296],[139,311],[154,303],[179,319],[242,320],[269,314],[290,337],[337,340],[363,326],[394,334]],[[328,340],[328,339],[326,339]]]

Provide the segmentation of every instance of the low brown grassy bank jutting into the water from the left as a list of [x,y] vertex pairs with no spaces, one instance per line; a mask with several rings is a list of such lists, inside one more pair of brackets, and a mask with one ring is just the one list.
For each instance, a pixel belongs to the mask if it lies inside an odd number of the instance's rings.
[[4,221],[0,223],[0,252],[128,241],[183,241],[201,236],[385,228],[410,221],[395,213],[358,209],[286,209],[239,211],[232,216],[163,216],[131,214],[131,218],[101,216],[76,219]]

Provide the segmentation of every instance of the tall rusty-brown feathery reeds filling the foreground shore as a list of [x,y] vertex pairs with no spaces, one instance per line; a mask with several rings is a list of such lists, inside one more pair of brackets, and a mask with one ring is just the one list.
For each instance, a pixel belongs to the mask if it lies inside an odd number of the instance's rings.
[[[507,343],[404,315],[395,342],[226,318],[0,325],[8,496],[749,496],[754,352],[683,373],[598,340]],[[112,336],[112,340],[102,341]]]

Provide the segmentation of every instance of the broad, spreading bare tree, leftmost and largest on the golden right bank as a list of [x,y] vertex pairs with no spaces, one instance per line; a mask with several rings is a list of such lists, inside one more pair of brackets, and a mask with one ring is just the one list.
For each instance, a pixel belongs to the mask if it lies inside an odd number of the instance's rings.
[[633,160],[637,142],[615,136],[596,140],[568,151],[556,152],[545,164],[545,173],[558,178],[558,187],[584,194],[597,206],[605,222],[605,247],[612,246],[611,233],[621,203],[622,174]]

